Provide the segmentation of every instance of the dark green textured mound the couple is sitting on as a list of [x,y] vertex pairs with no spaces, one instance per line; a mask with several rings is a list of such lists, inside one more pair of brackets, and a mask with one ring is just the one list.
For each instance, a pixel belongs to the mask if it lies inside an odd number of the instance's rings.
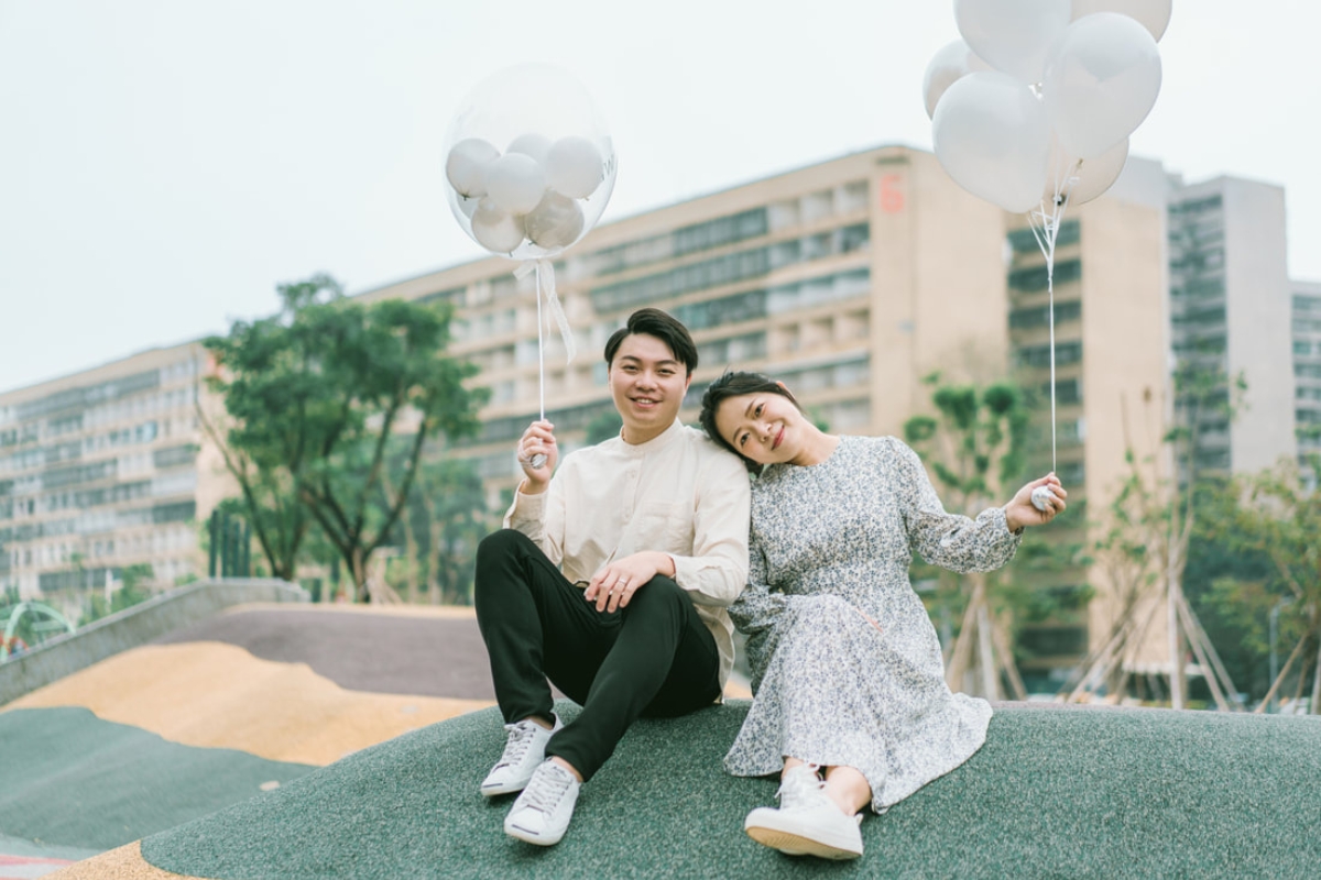
[[1001,707],[967,764],[867,818],[861,860],[827,863],[742,834],[748,810],[775,793],[773,780],[720,769],[746,706],[637,723],[551,848],[505,836],[513,796],[477,792],[503,745],[498,714],[483,710],[149,836],[141,852],[222,880],[1321,872],[1318,719]]

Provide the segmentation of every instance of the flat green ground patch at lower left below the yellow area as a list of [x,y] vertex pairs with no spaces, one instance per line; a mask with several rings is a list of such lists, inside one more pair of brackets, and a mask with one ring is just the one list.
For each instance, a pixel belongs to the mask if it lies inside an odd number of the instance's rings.
[[86,708],[13,708],[0,712],[0,835],[100,852],[312,769],[178,745]]

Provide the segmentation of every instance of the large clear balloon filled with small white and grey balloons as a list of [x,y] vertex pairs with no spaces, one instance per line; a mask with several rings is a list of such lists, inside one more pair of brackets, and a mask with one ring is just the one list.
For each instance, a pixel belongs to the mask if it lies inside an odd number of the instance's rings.
[[491,253],[550,259],[601,219],[618,161],[584,86],[552,65],[507,67],[480,83],[449,125],[445,195],[458,226]]

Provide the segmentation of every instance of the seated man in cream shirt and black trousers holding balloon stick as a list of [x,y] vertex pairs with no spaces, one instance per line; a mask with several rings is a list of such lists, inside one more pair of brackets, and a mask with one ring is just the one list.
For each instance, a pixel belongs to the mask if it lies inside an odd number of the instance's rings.
[[[678,418],[692,336],[642,309],[605,361],[620,437],[556,472],[553,426],[534,422],[506,528],[477,551],[477,621],[509,731],[481,790],[522,792],[505,833],[539,846],[564,836],[579,785],[639,715],[720,699],[733,664],[725,607],[748,578],[748,471]],[[572,724],[555,716],[547,678],[583,706]]]

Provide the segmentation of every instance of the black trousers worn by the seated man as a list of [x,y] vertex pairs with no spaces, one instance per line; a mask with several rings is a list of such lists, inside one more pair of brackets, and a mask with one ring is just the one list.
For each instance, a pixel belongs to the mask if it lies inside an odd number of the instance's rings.
[[684,715],[720,697],[716,640],[671,578],[600,612],[527,536],[503,529],[477,549],[474,594],[505,722],[552,718],[550,678],[583,711],[546,753],[584,780],[637,718]]

